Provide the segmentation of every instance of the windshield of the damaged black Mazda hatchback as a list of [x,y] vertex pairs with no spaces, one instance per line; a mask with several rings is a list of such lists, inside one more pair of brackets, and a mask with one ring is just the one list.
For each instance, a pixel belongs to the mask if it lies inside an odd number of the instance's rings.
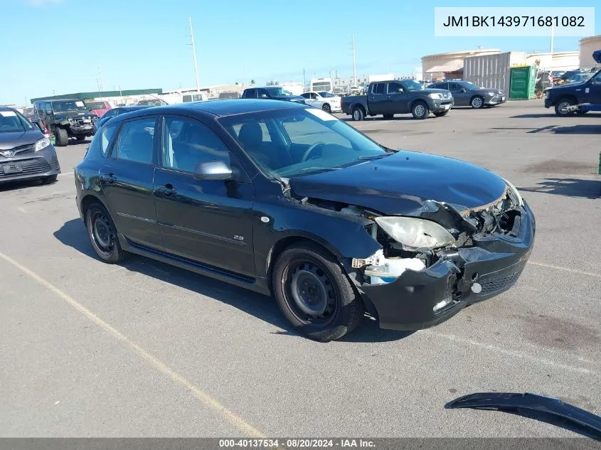
[[238,114],[219,123],[269,176],[336,170],[390,151],[316,108]]

